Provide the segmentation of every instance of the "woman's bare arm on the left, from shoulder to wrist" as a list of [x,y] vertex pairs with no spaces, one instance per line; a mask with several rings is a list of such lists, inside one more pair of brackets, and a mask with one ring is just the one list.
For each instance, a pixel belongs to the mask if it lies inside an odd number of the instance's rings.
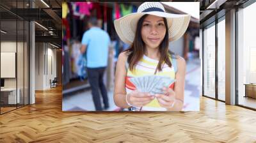
[[126,91],[125,91],[125,77],[127,74],[125,68],[125,62],[127,60],[127,55],[122,52],[118,56],[116,63],[115,72],[115,89],[114,89],[114,102],[116,106],[121,108],[129,108],[130,106],[126,102]]

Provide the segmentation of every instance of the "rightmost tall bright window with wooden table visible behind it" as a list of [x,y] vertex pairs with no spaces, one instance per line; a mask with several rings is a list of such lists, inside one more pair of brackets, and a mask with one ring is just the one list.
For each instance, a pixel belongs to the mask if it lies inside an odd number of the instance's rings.
[[237,11],[237,104],[256,109],[256,3]]

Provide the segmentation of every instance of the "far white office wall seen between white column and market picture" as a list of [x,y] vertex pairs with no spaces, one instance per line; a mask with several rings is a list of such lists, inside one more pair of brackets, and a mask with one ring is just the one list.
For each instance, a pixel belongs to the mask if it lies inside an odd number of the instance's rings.
[[50,79],[56,77],[56,49],[52,48],[49,43],[36,43],[36,90],[51,88]]

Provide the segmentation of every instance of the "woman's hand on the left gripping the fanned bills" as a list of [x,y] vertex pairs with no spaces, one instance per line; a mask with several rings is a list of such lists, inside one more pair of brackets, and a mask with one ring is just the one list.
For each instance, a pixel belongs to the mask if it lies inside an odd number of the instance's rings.
[[155,96],[150,95],[149,93],[141,93],[140,91],[132,91],[127,94],[127,102],[133,107],[143,107],[151,102]]

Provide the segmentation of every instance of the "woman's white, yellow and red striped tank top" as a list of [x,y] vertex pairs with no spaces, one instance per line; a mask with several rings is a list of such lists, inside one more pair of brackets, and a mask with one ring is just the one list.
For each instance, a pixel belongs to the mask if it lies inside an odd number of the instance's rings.
[[[176,58],[173,58],[172,56],[170,56],[170,61],[172,63],[172,67],[170,68],[166,63],[164,63],[162,71],[159,72],[157,70],[156,75],[175,79],[175,73],[177,72],[177,60]],[[158,62],[159,61],[157,61],[156,59],[152,59],[150,57],[143,55],[143,58],[141,58],[141,60],[134,66],[134,72],[131,72],[131,70],[129,69],[129,64],[126,62],[126,65],[125,65],[127,69],[127,75],[125,79],[126,93],[129,94],[131,93],[131,91],[136,90],[136,87],[134,86],[134,84],[132,84],[132,82],[129,79],[131,79],[132,77],[154,75]],[[174,83],[169,85],[169,87],[174,89]],[[135,110],[140,110],[140,108],[136,108]],[[166,109],[161,107],[157,99],[154,98],[154,100],[152,100],[150,103],[143,106],[141,110],[163,111]]]

